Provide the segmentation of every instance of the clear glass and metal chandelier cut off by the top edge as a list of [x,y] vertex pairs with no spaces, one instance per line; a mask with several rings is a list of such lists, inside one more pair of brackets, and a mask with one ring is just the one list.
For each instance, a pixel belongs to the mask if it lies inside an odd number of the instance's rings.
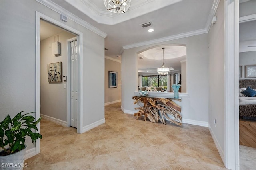
[[105,7],[110,12],[125,13],[129,10],[131,0],[103,0]]

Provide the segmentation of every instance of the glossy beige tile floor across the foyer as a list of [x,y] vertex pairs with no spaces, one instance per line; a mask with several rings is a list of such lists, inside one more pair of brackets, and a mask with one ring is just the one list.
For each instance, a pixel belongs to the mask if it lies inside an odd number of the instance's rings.
[[41,121],[41,153],[31,170],[222,170],[207,127],[162,125],[105,106],[106,123],[77,134],[72,127]]

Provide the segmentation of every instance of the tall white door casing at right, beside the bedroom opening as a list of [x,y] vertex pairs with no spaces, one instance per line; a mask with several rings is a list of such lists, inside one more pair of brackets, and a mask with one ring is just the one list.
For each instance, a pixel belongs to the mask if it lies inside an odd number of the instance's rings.
[[[239,1],[224,0],[224,164],[239,170]],[[233,100],[230,100],[233,99]]]

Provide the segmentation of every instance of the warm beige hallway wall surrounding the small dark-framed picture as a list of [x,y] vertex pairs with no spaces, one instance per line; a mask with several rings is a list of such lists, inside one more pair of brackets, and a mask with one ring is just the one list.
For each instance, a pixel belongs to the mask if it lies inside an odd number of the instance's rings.
[[[117,88],[108,88],[108,71],[117,72]],[[105,105],[121,100],[121,63],[105,58]]]

